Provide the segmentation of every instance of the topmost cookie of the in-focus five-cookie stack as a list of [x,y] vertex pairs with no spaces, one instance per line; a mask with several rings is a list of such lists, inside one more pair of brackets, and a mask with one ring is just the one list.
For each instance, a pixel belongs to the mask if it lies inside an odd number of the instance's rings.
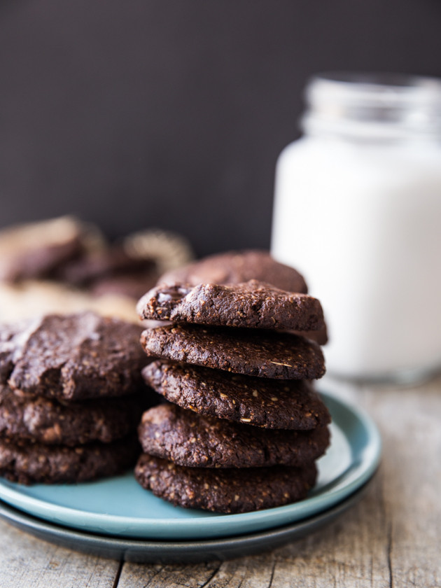
[[232,286],[158,286],[139,300],[140,318],[258,329],[324,328],[318,300],[250,280]]

